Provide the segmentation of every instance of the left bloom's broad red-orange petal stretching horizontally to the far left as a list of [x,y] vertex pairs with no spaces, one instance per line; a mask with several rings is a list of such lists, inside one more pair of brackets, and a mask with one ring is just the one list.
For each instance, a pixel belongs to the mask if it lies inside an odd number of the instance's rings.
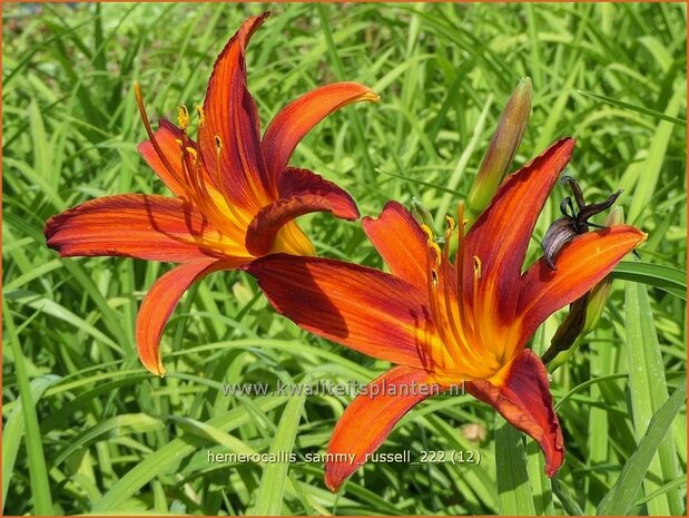
[[155,195],[91,199],[48,219],[43,233],[48,246],[62,257],[119,255],[184,262],[243,250],[190,204]]

